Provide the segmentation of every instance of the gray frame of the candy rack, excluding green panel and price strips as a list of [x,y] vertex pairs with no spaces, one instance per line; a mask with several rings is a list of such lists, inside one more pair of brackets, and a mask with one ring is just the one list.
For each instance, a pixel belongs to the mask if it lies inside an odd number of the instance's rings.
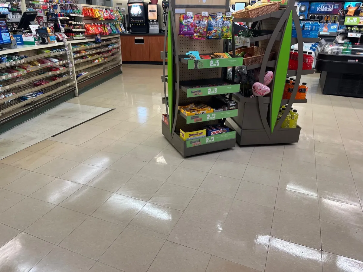
[[[180,60],[180,55],[185,54],[185,50],[184,52],[181,52],[182,49],[181,48],[187,48],[187,46],[185,46],[185,43],[187,42],[195,42],[196,44],[198,42],[205,42],[206,44],[208,43],[208,45],[204,45],[203,47],[207,48],[208,46],[211,48],[216,49],[217,47],[220,47],[217,51],[209,51],[209,52],[202,52],[202,53],[214,53],[214,52],[228,52],[228,44],[229,44],[229,40],[228,39],[223,39],[223,40],[207,40],[207,41],[198,41],[198,40],[187,40],[186,37],[179,37],[177,34],[177,29],[176,29],[176,25],[175,25],[175,21],[176,21],[176,16],[175,16],[175,9],[180,9],[180,8],[185,8],[188,9],[188,11],[190,9],[193,9],[193,13],[197,13],[200,12],[201,10],[203,11],[208,11],[208,13],[213,13],[213,12],[218,12],[218,11],[229,11],[229,0],[225,1],[225,5],[190,5],[190,4],[185,4],[185,5],[176,5],[175,4],[175,0],[170,0],[170,5],[169,5],[169,10],[171,12],[171,16],[172,16],[172,25],[169,26],[167,23],[166,26],[166,32],[165,32],[165,36],[164,36],[164,52],[161,52],[161,56],[163,58],[163,75],[162,75],[162,82],[164,83],[164,98],[162,99],[163,103],[166,104],[166,114],[167,114],[167,118],[169,119],[169,111],[173,111],[174,113],[174,120],[170,121],[170,124],[167,125],[162,121],[162,133],[163,135],[166,137],[166,139],[178,150],[178,152],[180,152],[180,154],[184,157],[187,156],[192,156],[192,155],[196,155],[196,154],[201,154],[201,153],[207,153],[207,152],[212,152],[212,151],[218,151],[218,150],[223,150],[223,149],[228,149],[228,148],[232,148],[235,147],[236,145],[236,139],[233,137],[233,139],[228,139],[228,140],[222,140],[222,141],[216,141],[213,143],[208,143],[208,144],[202,144],[202,145],[197,145],[197,146],[193,146],[193,147],[187,147],[186,141],[183,141],[183,139],[181,139],[178,135],[179,132],[179,127],[181,127],[181,124],[185,123],[185,126],[187,127],[193,127],[195,126],[195,124],[186,124],[186,119],[180,115],[180,113],[178,113],[178,106],[181,103],[186,103],[186,102],[193,102],[193,101],[197,101],[197,100],[201,100],[202,102],[206,101],[208,98],[210,98],[212,95],[209,96],[200,96],[200,97],[193,97],[193,98],[186,98],[186,94],[187,92],[185,91],[185,88],[183,88],[183,86],[181,85],[181,83],[185,82],[185,81],[192,81],[192,80],[201,80],[201,81],[205,81],[205,79],[216,79],[216,78],[220,78],[222,80],[228,81],[226,79],[226,75],[227,75],[227,67],[223,67],[223,68],[209,68],[209,69],[193,69],[193,70],[188,70],[189,73],[191,73],[191,71],[193,71],[193,73],[197,74],[196,77],[197,78],[185,78],[188,77],[188,74],[185,72],[184,68],[187,66],[186,63],[184,63],[184,60]],[[197,9],[197,12],[194,12],[195,9]],[[212,10],[212,11],[211,11]],[[173,82],[173,92],[174,92],[174,101],[172,101],[171,105],[172,107],[168,108],[168,103],[166,103],[169,99],[167,98],[167,88],[166,88],[166,84],[168,82],[167,78],[168,76],[166,75],[166,58],[167,58],[167,50],[166,50],[166,41],[167,41],[167,33],[168,33],[168,28],[171,27],[172,28],[172,33],[173,33],[173,37],[172,37],[172,47],[173,47],[173,64],[174,64],[174,82]],[[232,27],[232,34],[233,34],[233,27]],[[179,39],[185,39],[183,41],[179,40]],[[183,45],[178,44],[179,41],[181,41],[181,43]],[[234,39],[232,38],[231,40],[232,42],[232,50],[233,52],[235,52],[235,44],[234,44]],[[195,46],[196,47],[196,46]],[[181,49],[181,50],[180,50]],[[188,50],[197,50],[197,49],[188,49]],[[221,51],[222,50],[222,51]],[[204,50],[205,51],[205,50]],[[181,52],[181,53],[179,53]],[[185,67],[183,67],[182,65],[184,65]],[[203,70],[203,71],[201,71]],[[203,77],[203,75],[206,75],[209,72],[209,76]],[[232,78],[234,77],[234,72],[235,72],[235,67],[233,67],[232,69]],[[184,79],[183,79],[184,77]],[[224,124],[225,119],[219,119],[219,120],[212,120],[212,121],[204,121],[202,124],[203,125],[207,125],[207,124],[215,124],[215,123],[221,123]],[[200,123],[198,123],[200,125]],[[172,126],[172,133],[170,133],[170,126]],[[183,126],[184,127],[184,126]],[[178,128],[178,130],[176,131],[176,128]],[[233,130],[232,130],[233,131]]]

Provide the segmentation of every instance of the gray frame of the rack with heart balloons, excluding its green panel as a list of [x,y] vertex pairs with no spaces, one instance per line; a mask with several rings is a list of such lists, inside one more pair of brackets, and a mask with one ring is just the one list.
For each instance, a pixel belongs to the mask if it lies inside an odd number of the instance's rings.
[[[282,7],[282,6],[281,6]],[[267,46],[265,48],[266,54],[263,58],[261,64],[260,74],[265,74],[266,67],[271,67],[268,63],[268,54],[273,49],[275,41],[280,41],[279,31],[283,29],[283,34],[286,29],[287,18],[290,16],[292,11],[293,21],[299,22],[299,18],[296,10],[294,9],[294,1],[288,0],[285,9],[280,9],[277,12],[273,12],[269,15],[261,15],[256,18],[237,18],[233,19],[236,22],[256,22],[260,20],[265,20],[269,18],[280,18],[277,24],[274,26],[274,32],[269,38]],[[290,44],[298,44],[298,69],[297,70],[287,70],[287,77],[296,77],[296,82],[301,81],[302,75],[313,74],[315,72],[312,70],[302,70],[303,62],[303,42],[317,42],[319,38],[302,38],[302,32],[300,28],[296,28],[297,38],[291,37]],[[282,39],[282,38],[281,38]],[[281,43],[279,45],[278,55],[280,54]],[[276,74],[276,67],[278,64],[278,55],[276,57],[276,65],[274,65],[274,74]],[[249,69],[247,67],[247,69]],[[275,80],[275,79],[274,79]],[[263,83],[263,77],[260,77],[260,82]],[[273,89],[271,90],[273,92]],[[291,94],[291,99],[282,99],[281,105],[287,104],[286,108],[291,108],[293,103],[306,103],[307,99],[296,100],[295,96],[298,92],[298,85],[295,85],[293,92]],[[301,127],[284,129],[281,128],[282,122],[286,118],[288,111],[285,111],[282,115],[280,121],[274,126],[273,132],[271,133],[271,128],[268,123],[268,118],[271,114],[271,97],[258,96],[256,98],[246,98],[240,94],[233,94],[232,99],[238,102],[238,116],[227,118],[226,125],[232,127],[236,132],[236,141],[239,145],[257,145],[257,144],[282,144],[282,143],[297,143],[299,141],[299,135]]]

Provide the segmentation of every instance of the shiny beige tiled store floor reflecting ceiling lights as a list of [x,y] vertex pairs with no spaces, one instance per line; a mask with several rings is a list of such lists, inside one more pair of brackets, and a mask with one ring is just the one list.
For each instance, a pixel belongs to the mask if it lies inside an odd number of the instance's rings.
[[1,272],[363,271],[363,99],[305,77],[299,143],[184,159],[162,66],[123,71],[68,101],[115,110],[0,160]]

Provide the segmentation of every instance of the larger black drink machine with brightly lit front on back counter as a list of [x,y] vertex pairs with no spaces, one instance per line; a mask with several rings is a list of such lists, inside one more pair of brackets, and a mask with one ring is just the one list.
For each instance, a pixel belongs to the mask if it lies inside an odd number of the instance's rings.
[[129,20],[131,33],[148,33],[149,24],[147,22],[147,3],[132,2],[127,3],[129,9]]

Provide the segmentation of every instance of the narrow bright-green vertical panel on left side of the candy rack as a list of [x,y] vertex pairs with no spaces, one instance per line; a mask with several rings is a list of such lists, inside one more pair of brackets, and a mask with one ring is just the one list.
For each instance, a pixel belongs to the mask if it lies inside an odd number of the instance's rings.
[[170,11],[168,11],[168,107],[169,107],[169,127],[170,133],[172,133],[173,127],[173,87],[174,87],[174,62],[173,62],[173,32],[172,32],[172,24],[171,24],[171,15]]

